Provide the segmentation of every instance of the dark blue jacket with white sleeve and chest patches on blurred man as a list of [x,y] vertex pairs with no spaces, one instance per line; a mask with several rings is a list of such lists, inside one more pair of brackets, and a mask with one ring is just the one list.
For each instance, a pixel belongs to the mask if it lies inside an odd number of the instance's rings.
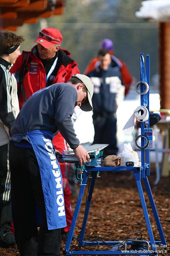
[[115,113],[116,96],[122,87],[122,77],[118,67],[103,70],[100,67],[87,74],[94,84],[92,97],[94,113]]

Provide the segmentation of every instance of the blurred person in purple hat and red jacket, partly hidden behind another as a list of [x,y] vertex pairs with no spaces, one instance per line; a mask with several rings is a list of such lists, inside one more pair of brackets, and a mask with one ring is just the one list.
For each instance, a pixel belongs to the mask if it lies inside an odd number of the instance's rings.
[[[133,77],[131,76],[126,64],[121,60],[115,57],[114,55],[114,44],[110,39],[103,39],[100,43],[100,48],[107,49],[111,54],[111,65],[112,67],[118,67],[122,76],[122,84],[125,86],[125,96],[129,92],[130,85],[133,83]],[[99,66],[98,57],[92,59],[87,65],[84,74],[87,75],[90,71],[94,70]]]

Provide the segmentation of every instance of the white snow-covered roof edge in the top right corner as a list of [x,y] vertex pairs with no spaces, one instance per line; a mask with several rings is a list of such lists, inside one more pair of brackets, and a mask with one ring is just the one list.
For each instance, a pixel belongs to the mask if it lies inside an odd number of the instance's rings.
[[170,20],[170,0],[142,1],[141,5],[139,12],[135,12],[137,18],[157,21]]

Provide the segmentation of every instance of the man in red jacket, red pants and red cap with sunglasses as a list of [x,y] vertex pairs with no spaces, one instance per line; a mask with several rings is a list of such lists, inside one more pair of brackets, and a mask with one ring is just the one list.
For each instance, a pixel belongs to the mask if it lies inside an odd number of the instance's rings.
[[[55,28],[45,28],[39,32],[34,41],[38,43],[30,52],[23,51],[18,57],[11,72],[15,73],[18,81],[18,97],[20,109],[27,99],[36,91],[55,83],[67,82],[73,74],[80,73],[77,63],[70,58],[67,50],[61,49],[62,35]],[[55,149],[63,152],[67,149],[66,142],[60,132],[54,137]],[[71,212],[71,191],[68,185],[68,163],[60,165],[63,176],[64,203],[66,212],[67,227],[64,233],[70,230]]]

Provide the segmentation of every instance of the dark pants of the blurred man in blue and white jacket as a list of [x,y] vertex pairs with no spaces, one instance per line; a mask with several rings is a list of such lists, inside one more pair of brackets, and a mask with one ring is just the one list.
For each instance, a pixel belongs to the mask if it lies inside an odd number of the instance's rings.
[[109,144],[104,154],[112,155],[117,153],[116,123],[115,114],[93,113],[94,141],[93,144]]

